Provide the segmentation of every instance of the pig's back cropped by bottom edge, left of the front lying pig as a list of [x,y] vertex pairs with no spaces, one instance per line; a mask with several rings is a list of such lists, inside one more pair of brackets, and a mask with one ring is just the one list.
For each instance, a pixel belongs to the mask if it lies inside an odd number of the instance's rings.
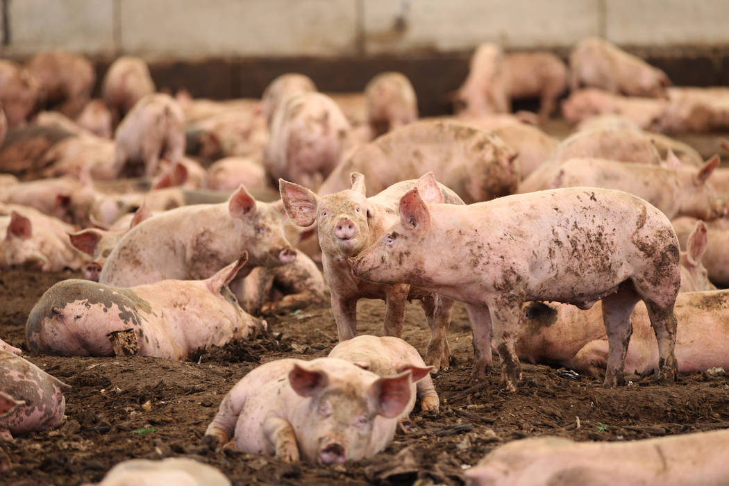
[[[130,459],[118,463],[98,486],[178,485],[230,486],[225,474],[198,460],[166,458],[163,460]],[[86,484],[84,486],[93,486]]]

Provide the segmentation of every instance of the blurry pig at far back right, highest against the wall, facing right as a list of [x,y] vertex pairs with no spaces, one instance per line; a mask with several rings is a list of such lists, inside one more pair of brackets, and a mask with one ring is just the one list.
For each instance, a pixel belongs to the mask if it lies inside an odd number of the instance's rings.
[[587,37],[577,42],[569,54],[569,89],[574,93],[580,85],[628,96],[666,98],[671,80],[660,69],[615,44]]

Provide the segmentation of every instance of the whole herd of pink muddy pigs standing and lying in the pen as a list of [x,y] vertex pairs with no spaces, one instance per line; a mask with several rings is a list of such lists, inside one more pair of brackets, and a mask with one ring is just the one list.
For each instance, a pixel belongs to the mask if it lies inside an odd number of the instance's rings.
[[[562,114],[580,125],[559,141],[537,125],[568,85]],[[601,39],[578,43],[569,68],[483,44],[453,95],[456,114],[433,119],[418,119],[416,93],[395,72],[362,94],[327,95],[284,74],[260,100],[211,101],[157,92],[144,61],[125,56],[91,99],[82,57],[0,60],[0,268],[87,277],[45,292],[23,345],[184,360],[329,294],[340,340],[330,356],[254,369],[205,435],[321,464],[383,450],[416,394],[437,411],[429,373],[450,366],[456,301],[472,325],[472,380],[496,352],[509,391],[520,358],[604,374],[607,386],[625,372],[672,382],[729,369],[729,291],[715,286],[729,286],[729,171],[656,133],[729,128],[729,88],[669,85]],[[512,99],[530,97],[539,114],[510,113]],[[386,302],[386,337],[356,336],[362,298]],[[431,329],[424,358],[399,339],[412,299]],[[58,425],[70,388],[22,352],[0,340],[7,439]],[[626,481],[682,484],[677,471],[728,477],[712,446],[728,440],[530,439],[468,475],[585,484],[620,462],[632,464],[620,469]]]

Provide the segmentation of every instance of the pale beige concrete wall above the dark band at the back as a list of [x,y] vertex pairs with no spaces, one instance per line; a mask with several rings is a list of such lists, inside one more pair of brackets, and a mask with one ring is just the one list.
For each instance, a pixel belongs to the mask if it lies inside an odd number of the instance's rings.
[[484,41],[566,48],[588,35],[631,47],[729,45],[728,0],[0,2],[0,55],[10,58],[58,47],[152,61],[442,55]]

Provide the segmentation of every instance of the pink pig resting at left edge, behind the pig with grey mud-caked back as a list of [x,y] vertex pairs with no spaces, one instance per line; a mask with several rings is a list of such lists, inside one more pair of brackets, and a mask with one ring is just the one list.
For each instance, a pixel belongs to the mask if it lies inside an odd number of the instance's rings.
[[73,248],[66,232],[74,228],[58,219],[20,205],[0,204],[0,268],[39,268],[60,272],[79,270],[85,259]]

